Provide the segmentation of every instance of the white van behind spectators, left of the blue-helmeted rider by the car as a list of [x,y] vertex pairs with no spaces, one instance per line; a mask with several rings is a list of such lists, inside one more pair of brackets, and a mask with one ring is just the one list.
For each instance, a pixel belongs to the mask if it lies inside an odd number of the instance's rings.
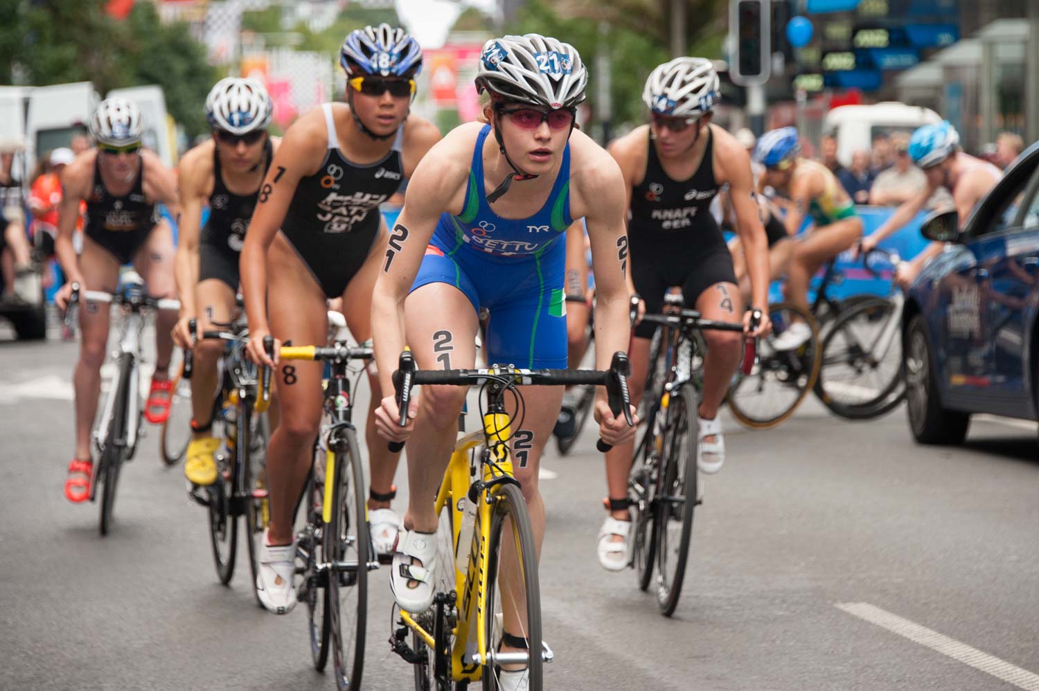
[[941,117],[930,108],[907,106],[885,101],[869,106],[838,106],[826,113],[823,134],[837,139],[837,161],[851,165],[851,156],[858,150],[870,151],[873,138],[893,132],[912,134],[921,125],[940,123]]

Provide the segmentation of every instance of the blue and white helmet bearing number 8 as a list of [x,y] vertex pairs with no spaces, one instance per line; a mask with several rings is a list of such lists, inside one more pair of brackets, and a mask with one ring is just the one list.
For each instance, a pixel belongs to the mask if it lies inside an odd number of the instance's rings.
[[348,33],[339,61],[347,77],[414,77],[422,70],[422,49],[404,29],[383,23]]

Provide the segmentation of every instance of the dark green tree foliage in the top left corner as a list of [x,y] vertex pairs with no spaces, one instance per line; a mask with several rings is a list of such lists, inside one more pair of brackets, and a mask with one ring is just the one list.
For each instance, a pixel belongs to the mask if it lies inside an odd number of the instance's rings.
[[11,21],[0,29],[0,81],[10,83],[19,65],[34,86],[90,81],[106,94],[159,84],[189,136],[208,129],[203,105],[216,72],[187,25],[163,24],[152,3],[136,3],[123,21],[105,12],[104,0],[20,2],[5,17]]

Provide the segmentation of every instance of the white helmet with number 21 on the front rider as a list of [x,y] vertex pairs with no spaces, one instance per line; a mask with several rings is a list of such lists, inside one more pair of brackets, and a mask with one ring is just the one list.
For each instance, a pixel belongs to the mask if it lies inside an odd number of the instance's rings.
[[497,101],[575,108],[585,100],[588,71],[569,44],[539,33],[491,38],[483,45],[477,91]]

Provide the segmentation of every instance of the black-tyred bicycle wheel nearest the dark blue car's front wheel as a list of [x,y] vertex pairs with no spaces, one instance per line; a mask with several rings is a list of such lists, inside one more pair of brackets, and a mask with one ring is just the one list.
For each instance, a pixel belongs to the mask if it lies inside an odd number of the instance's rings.
[[869,419],[902,402],[901,328],[891,323],[897,312],[891,300],[860,301],[842,313],[823,339],[815,391],[836,415]]

